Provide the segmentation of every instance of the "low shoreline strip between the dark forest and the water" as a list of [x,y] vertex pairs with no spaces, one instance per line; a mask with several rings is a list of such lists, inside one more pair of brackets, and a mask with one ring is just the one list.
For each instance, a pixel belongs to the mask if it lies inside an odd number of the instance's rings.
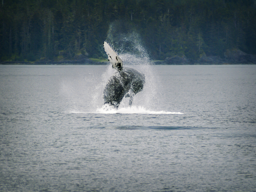
[[[165,60],[151,60],[152,65],[255,65],[256,55],[244,53],[241,50],[227,50],[225,58],[220,56],[202,55],[194,60],[185,55],[174,55],[166,57]],[[0,61],[0,65],[108,65],[107,59],[88,58],[82,54],[76,56],[73,60],[39,60],[39,61]]]

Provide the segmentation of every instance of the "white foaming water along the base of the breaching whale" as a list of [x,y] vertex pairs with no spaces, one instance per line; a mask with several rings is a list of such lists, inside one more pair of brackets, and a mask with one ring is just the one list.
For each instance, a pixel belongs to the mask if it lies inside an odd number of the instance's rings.
[[103,105],[96,113],[101,114],[183,114],[180,112],[165,112],[146,110],[143,106],[128,106],[126,108],[114,109],[111,106]]

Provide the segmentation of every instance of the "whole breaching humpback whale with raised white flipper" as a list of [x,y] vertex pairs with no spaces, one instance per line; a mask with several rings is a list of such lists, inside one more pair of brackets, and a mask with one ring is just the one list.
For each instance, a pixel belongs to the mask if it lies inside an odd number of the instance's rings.
[[116,69],[103,91],[104,104],[118,108],[123,97],[130,97],[129,105],[132,105],[133,97],[143,90],[145,75],[135,69],[123,68],[122,59],[112,50],[107,42],[104,42],[104,50],[109,56],[112,68]]

